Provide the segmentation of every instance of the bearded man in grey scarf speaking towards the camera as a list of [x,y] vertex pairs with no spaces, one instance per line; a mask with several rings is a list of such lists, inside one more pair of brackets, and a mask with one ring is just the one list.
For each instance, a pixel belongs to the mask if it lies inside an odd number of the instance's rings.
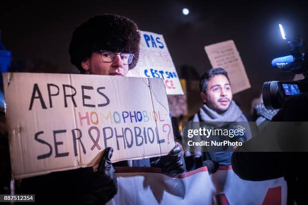
[[[208,70],[201,77],[199,86],[204,105],[194,115],[192,122],[205,122],[215,129],[228,130],[236,127],[235,122],[247,122],[240,108],[232,100],[232,88],[224,69]],[[246,141],[247,137],[251,136],[249,126],[245,126],[245,129],[245,135],[242,136],[241,141]],[[208,139],[211,140],[211,136]],[[219,139],[221,139],[220,136]],[[185,152],[185,156],[187,170],[207,166],[209,172],[213,173],[219,165],[231,164],[232,151],[194,150],[194,152]]]

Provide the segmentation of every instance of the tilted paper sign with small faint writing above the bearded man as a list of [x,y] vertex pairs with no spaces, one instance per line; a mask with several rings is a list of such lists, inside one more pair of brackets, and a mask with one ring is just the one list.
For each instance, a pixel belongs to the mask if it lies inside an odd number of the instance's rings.
[[245,67],[233,40],[205,46],[204,49],[212,67],[221,67],[227,71],[234,94],[250,88]]

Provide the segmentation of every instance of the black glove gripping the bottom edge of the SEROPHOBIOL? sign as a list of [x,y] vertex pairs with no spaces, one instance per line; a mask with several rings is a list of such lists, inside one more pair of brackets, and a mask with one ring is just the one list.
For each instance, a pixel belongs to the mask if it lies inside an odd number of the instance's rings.
[[105,204],[118,192],[117,177],[111,164],[113,149],[107,147],[98,169],[90,180],[89,191],[83,197],[84,204]]

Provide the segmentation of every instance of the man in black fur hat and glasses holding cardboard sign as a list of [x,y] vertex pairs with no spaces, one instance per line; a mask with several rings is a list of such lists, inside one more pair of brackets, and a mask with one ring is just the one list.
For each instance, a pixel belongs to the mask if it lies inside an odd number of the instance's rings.
[[[137,25],[122,16],[102,15],[76,28],[69,45],[71,63],[82,74],[126,76],[136,66],[140,33]],[[81,168],[54,172],[25,179],[24,190],[36,193],[37,199],[104,204],[117,193],[117,180],[111,164],[112,148],[106,148],[99,168]],[[183,173],[185,162],[181,148],[175,146],[167,156],[128,160],[119,166],[156,166],[168,173]],[[48,188],[46,188],[48,187]],[[52,198],[51,198],[52,200]]]

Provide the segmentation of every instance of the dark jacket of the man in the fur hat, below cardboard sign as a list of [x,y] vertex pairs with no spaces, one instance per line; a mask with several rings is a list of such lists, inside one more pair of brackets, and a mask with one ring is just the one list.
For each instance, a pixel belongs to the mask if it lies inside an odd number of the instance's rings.
[[[131,166],[150,166],[149,159],[131,161]],[[114,163],[113,166],[129,166],[129,163],[125,160]],[[102,204],[89,194],[89,190],[93,188],[92,177],[95,177],[93,168],[87,167],[25,178],[19,194],[35,194],[37,204]]]

